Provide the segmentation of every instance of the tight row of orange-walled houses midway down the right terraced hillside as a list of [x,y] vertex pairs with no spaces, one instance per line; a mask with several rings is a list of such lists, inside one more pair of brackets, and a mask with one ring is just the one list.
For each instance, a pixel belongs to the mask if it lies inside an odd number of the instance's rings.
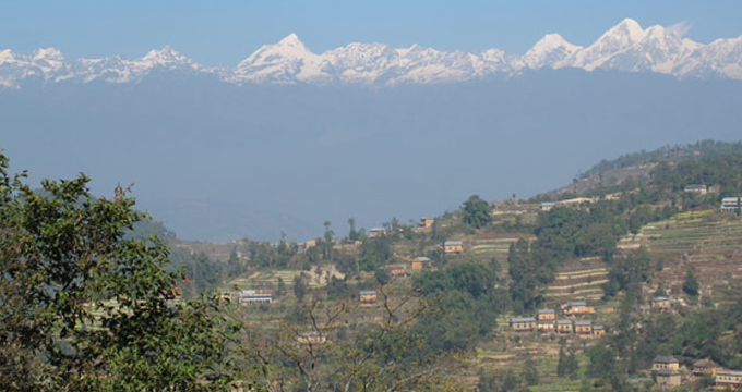
[[536,317],[514,317],[510,327],[516,332],[539,331],[542,333],[556,332],[559,334],[574,334],[579,338],[602,336],[606,334],[603,326],[594,324],[591,320],[573,320],[595,313],[593,306],[584,301],[572,301],[562,306],[564,319],[556,319],[554,309],[540,309]]

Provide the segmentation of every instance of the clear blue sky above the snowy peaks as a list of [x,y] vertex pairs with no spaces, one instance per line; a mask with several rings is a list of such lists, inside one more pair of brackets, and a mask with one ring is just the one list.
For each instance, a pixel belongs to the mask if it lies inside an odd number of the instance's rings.
[[69,58],[141,57],[171,45],[205,65],[235,65],[297,33],[314,52],[351,41],[523,53],[547,33],[589,45],[624,17],[687,23],[701,42],[742,34],[742,1],[10,1],[0,49],[56,47]]

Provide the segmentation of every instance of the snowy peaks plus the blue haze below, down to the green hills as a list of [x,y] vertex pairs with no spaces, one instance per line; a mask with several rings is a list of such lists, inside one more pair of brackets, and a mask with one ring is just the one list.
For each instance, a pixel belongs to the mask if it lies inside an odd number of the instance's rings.
[[[235,69],[171,48],[139,60],[0,52],[2,147],[14,170],[135,182],[185,240],[306,240],[555,188],[594,162],[739,139],[740,38],[708,45],[624,20],[578,47],[524,56],[290,35]],[[40,179],[33,179],[40,180]]]

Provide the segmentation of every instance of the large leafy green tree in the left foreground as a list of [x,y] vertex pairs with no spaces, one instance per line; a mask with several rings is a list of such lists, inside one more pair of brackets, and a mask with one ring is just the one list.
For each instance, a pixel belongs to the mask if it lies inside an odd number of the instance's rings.
[[36,192],[8,168],[0,152],[0,390],[227,389],[237,326],[216,297],[172,303],[167,245],[124,238],[148,218],[128,189],[96,199],[81,174]]

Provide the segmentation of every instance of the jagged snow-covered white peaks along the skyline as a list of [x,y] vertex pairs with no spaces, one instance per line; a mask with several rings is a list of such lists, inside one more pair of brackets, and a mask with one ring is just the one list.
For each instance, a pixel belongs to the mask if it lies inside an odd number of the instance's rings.
[[656,25],[644,29],[636,21],[625,19],[588,47],[548,34],[525,54],[516,56],[495,48],[467,53],[418,45],[395,49],[384,44],[357,42],[316,54],[290,34],[277,44],[262,46],[234,69],[204,68],[170,47],[151,50],[136,60],[118,56],[69,60],[53,48],[29,54],[0,50],[0,86],[19,88],[29,79],[135,83],[154,70],[213,74],[235,84],[394,85],[462,82],[563,68],[742,79],[742,36],[704,45],[683,38],[677,28]]

